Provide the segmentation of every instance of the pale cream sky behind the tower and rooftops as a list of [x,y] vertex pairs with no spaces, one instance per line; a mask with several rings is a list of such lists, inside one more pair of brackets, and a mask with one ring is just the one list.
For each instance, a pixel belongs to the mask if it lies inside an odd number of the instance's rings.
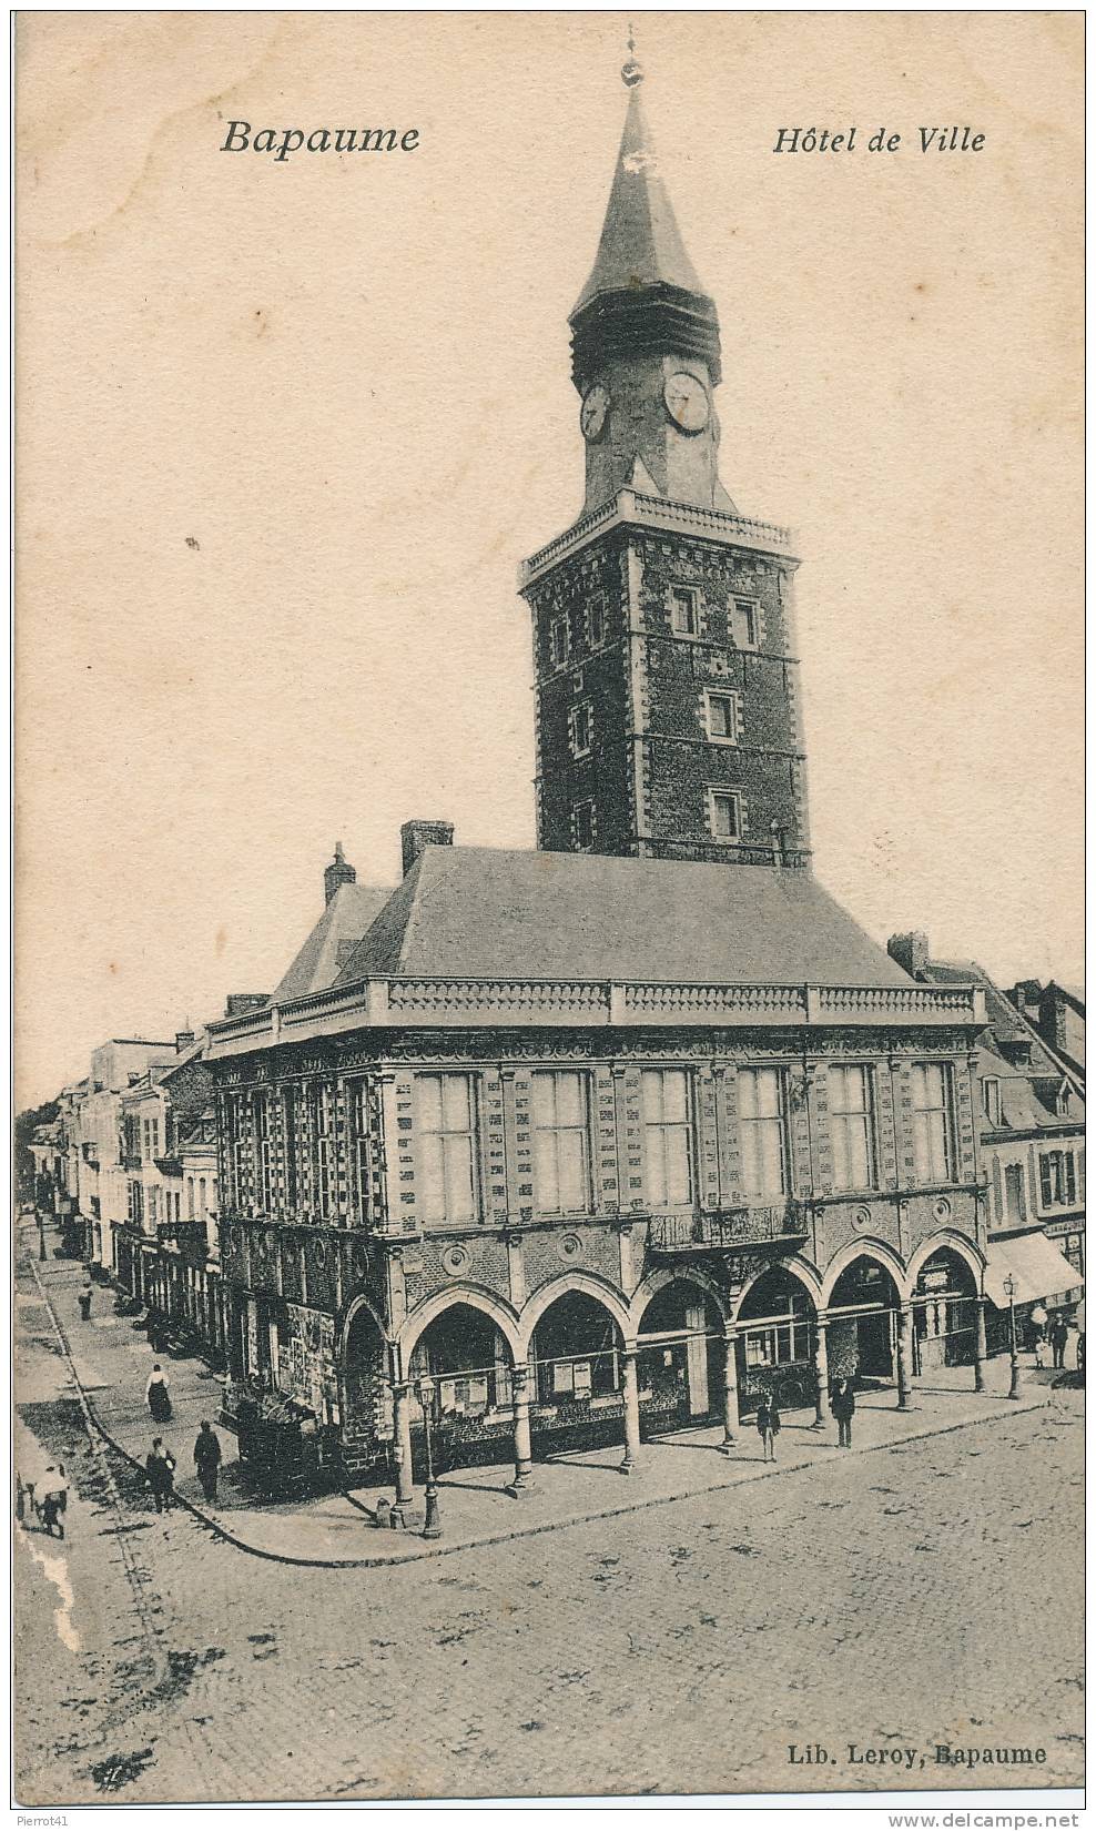
[[[637,24],[723,482],[803,557],[816,872],[876,939],[1080,983],[1083,18]],[[534,844],[516,569],[582,504],[624,37],[20,16],[16,1106],[271,991],[337,840],[370,883],[414,817]],[[276,163],[232,119],[419,145]],[[922,154],[951,123],[983,150]]]

